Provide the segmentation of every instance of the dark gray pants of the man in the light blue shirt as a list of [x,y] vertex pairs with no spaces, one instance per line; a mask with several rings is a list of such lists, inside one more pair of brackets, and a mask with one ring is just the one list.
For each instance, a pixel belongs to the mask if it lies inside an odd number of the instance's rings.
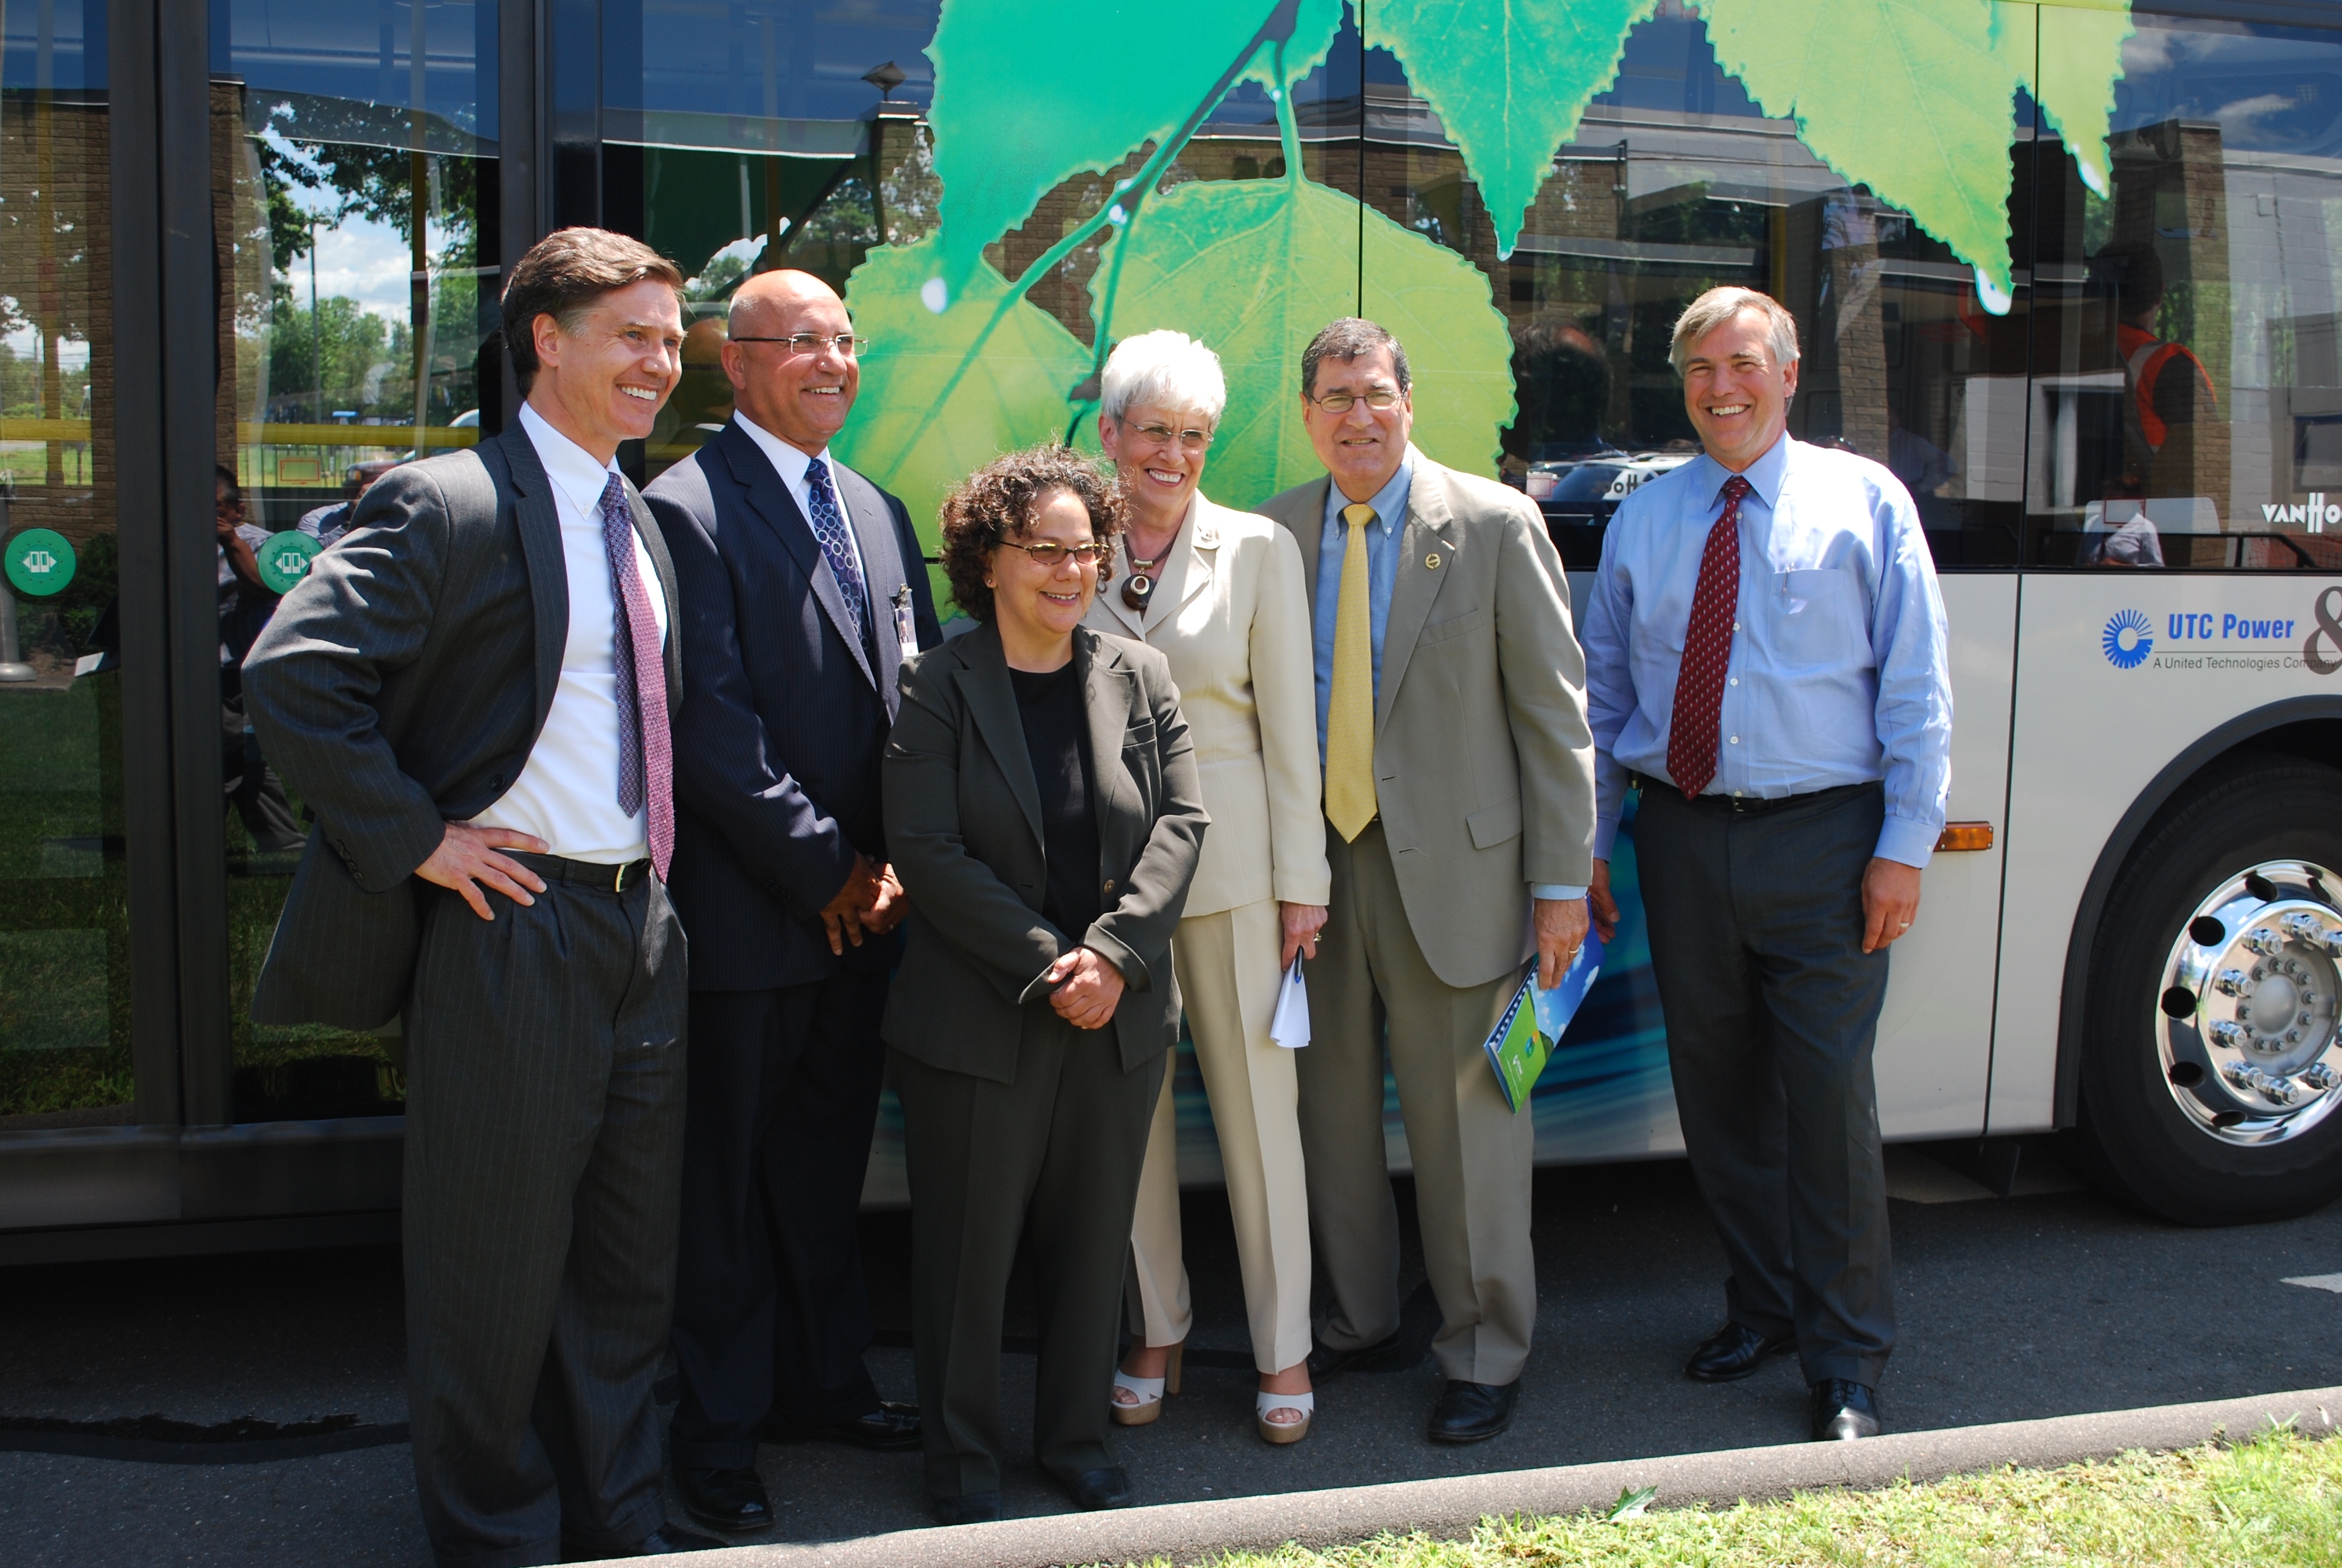
[[1881,785],[1789,804],[1651,780],[1635,818],[1684,1148],[1724,1242],[1726,1315],[1796,1334],[1806,1380],[1878,1388],[1895,1350],[1871,1048],[1885,949],[1862,952]]

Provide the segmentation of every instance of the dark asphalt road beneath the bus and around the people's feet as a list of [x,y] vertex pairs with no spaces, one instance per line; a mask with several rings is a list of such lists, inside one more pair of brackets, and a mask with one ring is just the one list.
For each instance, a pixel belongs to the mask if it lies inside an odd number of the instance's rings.
[[[2342,1383],[2342,1205],[2183,1230],[2075,1184],[2031,1148],[1993,1198],[1890,1151],[1902,1345],[1890,1430],[2230,1399]],[[1401,1184],[1405,1195],[1405,1184]],[[1405,1207],[1405,1205],[1403,1205]],[[1794,1359],[1707,1388],[1682,1359],[1721,1317],[1721,1256],[1682,1163],[1539,1172],[1539,1338],[1513,1430],[1433,1448],[1429,1362],[1319,1392],[1312,1437],[1251,1432],[1251,1357],[1225,1200],[1187,1195],[1197,1331],[1185,1392],[1115,1437],[1143,1502],[1241,1498],[1796,1441]],[[1412,1219],[1410,1219],[1412,1233]],[[913,1397],[902,1214],[864,1221],[881,1392]],[[1419,1282],[1405,1263],[1403,1289]],[[2342,1284],[2342,1280],[2335,1280]],[[1410,1322],[1429,1336],[1429,1294]],[[1030,1441],[1030,1310],[1005,1352],[1009,1448]],[[415,1516],[391,1249],[82,1263],[0,1273],[0,1563],[426,1563]],[[241,1423],[241,1425],[232,1425]],[[213,1444],[241,1437],[267,1448]],[[321,1444],[375,1444],[316,1453]],[[66,1446],[80,1453],[7,1451]],[[148,1463],[293,1451],[265,1463]],[[96,1453],[141,1458],[91,1458]],[[925,1521],[918,1455],[763,1448],[778,1528],[829,1540]],[[1066,1507],[1014,1463],[1007,1509]],[[672,1507],[672,1502],[670,1502]],[[679,1516],[679,1509],[677,1509]]]

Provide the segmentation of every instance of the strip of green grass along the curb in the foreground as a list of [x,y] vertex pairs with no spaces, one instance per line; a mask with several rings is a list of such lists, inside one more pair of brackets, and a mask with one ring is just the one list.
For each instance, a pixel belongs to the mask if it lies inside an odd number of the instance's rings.
[[[1213,1568],[2230,1568],[2342,1563],[2342,1444],[2269,1430],[2183,1453],[2066,1470],[1995,1470],[1930,1486],[1799,1493],[1787,1502],[1637,1519],[1482,1519],[1471,1540],[1382,1535],[1361,1547],[1208,1559]],[[1162,1566],[1164,1559],[1157,1559]]]

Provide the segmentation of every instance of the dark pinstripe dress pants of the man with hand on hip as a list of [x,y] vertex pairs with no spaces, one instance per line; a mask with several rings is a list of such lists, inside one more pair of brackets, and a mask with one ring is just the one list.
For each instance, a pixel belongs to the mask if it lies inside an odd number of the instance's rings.
[[408,1003],[408,1413],[443,1568],[616,1556],[665,1523],[684,933],[656,879],[436,893]]

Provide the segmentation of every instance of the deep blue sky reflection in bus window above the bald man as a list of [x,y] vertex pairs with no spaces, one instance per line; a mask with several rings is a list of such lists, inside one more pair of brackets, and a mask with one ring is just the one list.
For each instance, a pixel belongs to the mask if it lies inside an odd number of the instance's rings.
[[[904,73],[895,98],[927,103],[939,0],[602,0],[602,103],[773,120],[860,120],[862,75]],[[639,61],[639,70],[630,68]]]

